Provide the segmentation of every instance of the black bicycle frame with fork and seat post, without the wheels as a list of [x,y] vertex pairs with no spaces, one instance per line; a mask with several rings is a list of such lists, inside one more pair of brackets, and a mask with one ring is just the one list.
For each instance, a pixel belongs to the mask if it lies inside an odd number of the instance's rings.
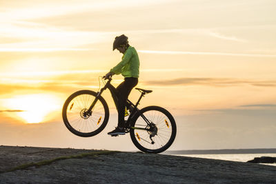
[[[112,99],[116,105],[116,108],[117,108],[117,101],[118,101],[118,94],[117,94],[117,90],[116,88],[110,83],[112,81],[111,78],[108,79],[108,81],[106,82],[106,85],[103,86],[103,88],[101,88],[101,90],[99,90],[99,92],[97,92],[97,96],[95,98],[95,100],[92,102],[92,104],[90,105],[90,108],[88,109],[88,114],[91,115],[92,114],[92,109],[94,108],[95,104],[97,103],[98,99],[99,99],[99,96],[101,96],[101,94],[103,93],[104,90],[108,89],[110,90],[110,93],[111,93],[111,96],[112,96]],[[126,121],[126,125],[130,125],[131,123],[131,119],[135,116],[135,114],[137,112],[139,112],[139,109],[137,108],[137,106],[140,104],[140,101],[142,99],[142,97],[145,95],[146,93],[145,92],[141,92],[141,96],[139,97],[138,101],[136,104],[132,103],[129,99],[127,100],[127,104],[126,106],[128,106],[127,108],[130,108],[130,106],[133,107],[133,110],[132,112],[130,112],[130,115],[128,117],[128,120]],[[141,114],[141,117],[146,121],[146,123],[148,125],[150,125],[150,121],[148,119],[146,119],[146,116],[144,116],[143,114]],[[141,128],[139,128],[141,129]],[[146,128],[142,129],[142,130],[147,130]]]

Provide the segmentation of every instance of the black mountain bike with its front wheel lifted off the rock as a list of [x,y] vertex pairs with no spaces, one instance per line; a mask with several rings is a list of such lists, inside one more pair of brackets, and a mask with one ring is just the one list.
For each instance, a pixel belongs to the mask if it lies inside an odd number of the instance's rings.
[[[109,119],[108,104],[101,94],[104,90],[110,90],[117,107],[117,90],[110,83],[112,77],[104,80],[103,88],[98,92],[80,90],[71,94],[63,105],[63,122],[70,132],[77,136],[95,136],[106,127]],[[100,81],[99,81],[100,83]],[[100,83],[101,86],[101,83]],[[126,103],[125,131],[130,133],[134,145],[142,152],[160,153],[172,145],[177,133],[175,119],[168,110],[159,106],[148,106],[139,110],[141,99],[152,90],[135,88],[141,92],[134,104],[129,99]]]

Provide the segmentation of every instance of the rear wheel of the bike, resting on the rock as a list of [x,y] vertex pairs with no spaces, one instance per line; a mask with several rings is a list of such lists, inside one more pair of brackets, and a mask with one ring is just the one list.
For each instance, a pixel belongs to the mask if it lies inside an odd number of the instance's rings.
[[177,133],[175,119],[170,112],[158,106],[149,106],[137,112],[130,125],[130,137],[142,152],[160,153],[172,145]]

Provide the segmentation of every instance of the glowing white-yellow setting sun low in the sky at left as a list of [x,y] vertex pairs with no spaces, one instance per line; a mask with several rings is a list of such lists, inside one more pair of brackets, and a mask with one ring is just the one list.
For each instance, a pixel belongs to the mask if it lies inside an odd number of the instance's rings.
[[50,118],[48,115],[59,110],[59,99],[49,94],[28,94],[14,96],[8,100],[9,108],[21,110],[16,116],[26,123],[41,123]]

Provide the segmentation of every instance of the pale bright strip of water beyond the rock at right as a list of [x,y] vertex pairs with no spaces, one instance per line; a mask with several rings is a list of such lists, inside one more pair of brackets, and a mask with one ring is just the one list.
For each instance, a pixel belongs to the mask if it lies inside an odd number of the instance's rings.
[[[247,162],[253,160],[255,157],[272,156],[276,157],[276,154],[175,154],[177,156],[190,156],[204,159],[218,159],[224,161],[238,161]],[[276,166],[276,163],[262,163],[264,165]]]

